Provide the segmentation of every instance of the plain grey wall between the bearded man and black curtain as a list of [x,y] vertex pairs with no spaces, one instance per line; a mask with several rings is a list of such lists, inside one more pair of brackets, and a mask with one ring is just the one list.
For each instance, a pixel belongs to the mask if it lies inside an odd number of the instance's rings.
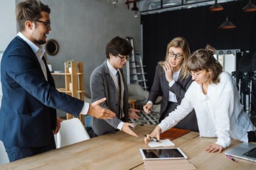
[[[20,0],[16,0],[18,4]],[[90,94],[90,75],[105,60],[105,45],[115,36],[131,36],[135,50],[141,50],[140,18],[126,5],[114,8],[105,0],[41,0],[51,8],[52,31],[48,39],[59,42],[59,53],[47,57],[53,70],[63,70],[64,61],[84,63],[84,84]],[[118,1],[119,2],[119,1]],[[57,86],[64,82],[55,77]]]

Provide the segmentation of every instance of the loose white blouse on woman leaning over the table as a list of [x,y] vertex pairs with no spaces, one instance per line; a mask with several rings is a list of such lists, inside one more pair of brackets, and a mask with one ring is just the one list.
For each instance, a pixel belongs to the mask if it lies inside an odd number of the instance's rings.
[[177,109],[158,124],[162,132],[175,126],[194,108],[201,137],[218,137],[216,144],[224,148],[229,146],[230,138],[248,142],[247,132],[255,131],[255,127],[243,110],[235,81],[227,72],[222,72],[219,78],[218,84],[208,86],[207,95],[202,92],[202,84],[194,81]]

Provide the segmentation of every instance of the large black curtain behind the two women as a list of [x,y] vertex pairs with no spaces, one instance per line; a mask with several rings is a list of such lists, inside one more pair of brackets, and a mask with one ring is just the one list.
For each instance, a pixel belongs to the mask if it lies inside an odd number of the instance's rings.
[[[210,12],[208,6],[141,15],[143,24],[143,63],[149,90],[154,80],[157,62],[165,59],[166,46],[171,39],[183,36],[190,50],[211,44],[215,49],[256,49],[256,12],[243,12],[249,1],[221,4],[224,10]],[[236,29],[218,29],[229,16]]]

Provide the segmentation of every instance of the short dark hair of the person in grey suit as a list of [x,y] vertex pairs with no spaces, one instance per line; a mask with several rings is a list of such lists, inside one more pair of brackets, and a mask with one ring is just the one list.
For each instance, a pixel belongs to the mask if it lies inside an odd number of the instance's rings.
[[128,42],[126,39],[120,38],[119,36],[116,36],[115,38],[111,39],[110,42],[107,43],[107,46],[105,47],[105,52],[107,58],[110,58],[109,54],[116,56],[118,54],[120,55],[130,55],[132,52],[132,46],[130,45],[130,42]]

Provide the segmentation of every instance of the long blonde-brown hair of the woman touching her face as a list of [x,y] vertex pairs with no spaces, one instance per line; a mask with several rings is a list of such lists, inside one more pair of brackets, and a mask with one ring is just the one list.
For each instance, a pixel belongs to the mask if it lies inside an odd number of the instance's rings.
[[[187,40],[183,37],[176,37],[176,38],[172,39],[172,41],[169,42],[169,44],[167,45],[165,61],[168,60],[168,57],[169,57],[168,52],[169,52],[170,47],[182,49],[183,61],[182,61],[181,69],[180,69],[179,79],[183,80],[184,78],[187,78],[189,75],[187,63],[188,63],[188,58],[190,56],[190,47],[188,46]],[[158,64],[160,64],[160,66],[162,66],[165,61],[159,61]]]

